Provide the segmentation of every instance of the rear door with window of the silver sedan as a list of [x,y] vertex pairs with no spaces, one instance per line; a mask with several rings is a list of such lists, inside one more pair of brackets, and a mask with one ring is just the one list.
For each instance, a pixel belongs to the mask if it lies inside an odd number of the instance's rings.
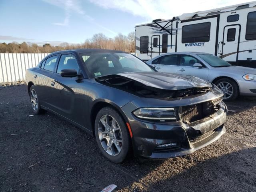
[[152,61],[160,72],[177,73],[178,54],[164,55]]

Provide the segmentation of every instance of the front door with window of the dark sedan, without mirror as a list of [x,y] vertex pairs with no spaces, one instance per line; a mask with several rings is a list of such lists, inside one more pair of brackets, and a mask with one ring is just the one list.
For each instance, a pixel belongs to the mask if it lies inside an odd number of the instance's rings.
[[86,107],[79,102],[80,83],[78,77],[62,77],[63,69],[75,69],[80,73],[76,56],[61,54],[56,72],[52,75],[51,109],[62,116],[80,123],[81,110]]

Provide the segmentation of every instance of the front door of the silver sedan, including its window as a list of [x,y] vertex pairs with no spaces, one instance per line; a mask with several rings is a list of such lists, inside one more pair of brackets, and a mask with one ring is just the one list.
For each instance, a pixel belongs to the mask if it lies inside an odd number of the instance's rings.
[[[203,67],[194,67],[193,65],[195,63],[200,63]],[[206,68],[206,66],[197,58],[186,54],[180,55],[180,65],[177,67],[177,73],[192,75],[208,80],[208,68]]]

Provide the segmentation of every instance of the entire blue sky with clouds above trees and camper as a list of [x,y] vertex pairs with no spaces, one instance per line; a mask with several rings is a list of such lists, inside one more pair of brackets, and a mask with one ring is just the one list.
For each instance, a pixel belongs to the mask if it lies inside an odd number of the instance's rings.
[[[245,0],[0,0],[0,42],[81,43],[102,32],[127,35],[136,24]],[[4,19],[3,19],[4,18]]]

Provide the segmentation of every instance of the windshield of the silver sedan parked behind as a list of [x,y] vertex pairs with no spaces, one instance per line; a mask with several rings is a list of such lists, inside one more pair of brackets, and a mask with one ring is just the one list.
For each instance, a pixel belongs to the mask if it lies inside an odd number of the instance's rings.
[[205,62],[207,62],[212,67],[229,67],[232,64],[226,62],[225,60],[212,55],[212,54],[198,54],[200,58],[202,58]]

